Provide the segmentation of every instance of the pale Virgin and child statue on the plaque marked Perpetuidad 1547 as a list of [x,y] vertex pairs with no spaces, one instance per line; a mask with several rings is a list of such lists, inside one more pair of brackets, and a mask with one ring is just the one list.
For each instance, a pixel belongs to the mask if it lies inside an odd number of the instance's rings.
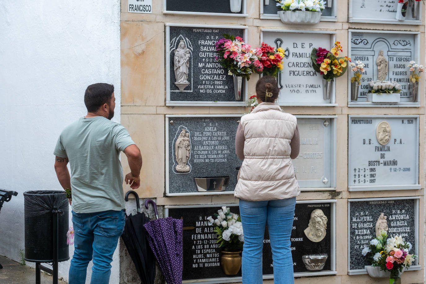
[[175,49],[175,56],[173,57],[173,68],[176,78],[175,85],[179,88],[179,91],[183,91],[189,85],[188,72],[190,57],[190,50],[187,49],[184,40],[181,40],[178,48]]

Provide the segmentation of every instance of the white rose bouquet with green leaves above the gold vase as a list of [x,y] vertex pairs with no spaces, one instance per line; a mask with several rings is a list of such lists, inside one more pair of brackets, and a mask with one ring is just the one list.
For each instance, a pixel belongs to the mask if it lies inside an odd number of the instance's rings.
[[219,247],[225,252],[238,252],[242,250],[244,243],[244,234],[242,231],[241,218],[238,214],[230,212],[229,207],[223,206],[217,211],[214,219],[212,216],[207,217],[210,225],[214,225]]

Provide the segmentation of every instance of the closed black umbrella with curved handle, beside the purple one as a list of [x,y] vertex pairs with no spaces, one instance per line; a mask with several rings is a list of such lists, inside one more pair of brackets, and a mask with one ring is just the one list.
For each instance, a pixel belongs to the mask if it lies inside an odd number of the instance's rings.
[[125,200],[129,201],[130,193],[133,193],[136,197],[138,212],[136,215],[126,215],[126,223],[121,238],[123,238],[130,258],[135,264],[141,283],[153,284],[155,279],[155,257],[149,247],[144,229],[144,224],[149,222],[150,218],[141,213],[139,196],[136,192],[129,190],[126,193]]

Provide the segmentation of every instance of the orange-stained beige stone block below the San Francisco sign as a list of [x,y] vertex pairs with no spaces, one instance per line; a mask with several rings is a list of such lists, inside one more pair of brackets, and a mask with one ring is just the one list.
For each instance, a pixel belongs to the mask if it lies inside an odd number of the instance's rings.
[[164,105],[164,23],[121,22],[121,105]]

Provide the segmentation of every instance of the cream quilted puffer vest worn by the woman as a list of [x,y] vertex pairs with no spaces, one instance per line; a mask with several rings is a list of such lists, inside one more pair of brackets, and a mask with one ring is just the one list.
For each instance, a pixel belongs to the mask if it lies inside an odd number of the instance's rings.
[[235,197],[247,201],[292,198],[300,193],[291,163],[294,115],[275,103],[260,103],[240,123],[244,132],[244,161]]

